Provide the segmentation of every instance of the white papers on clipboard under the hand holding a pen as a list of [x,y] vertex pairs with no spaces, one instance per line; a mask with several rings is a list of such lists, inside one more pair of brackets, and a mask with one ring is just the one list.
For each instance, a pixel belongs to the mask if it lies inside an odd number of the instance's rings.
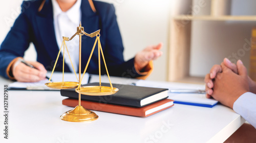
[[[47,76],[51,76],[51,73],[47,73]],[[78,74],[77,74],[78,77]],[[87,84],[90,75],[88,73],[84,74],[82,79],[82,84]],[[51,82],[62,81],[62,73],[56,72],[52,75]],[[64,73],[64,81],[77,81],[74,73]],[[36,91],[59,91],[58,89],[48,88],[45,83],[49,82],[48,79],[40,80],[38,82],[13,82],[9,84],[9,90],[36,90]]]

